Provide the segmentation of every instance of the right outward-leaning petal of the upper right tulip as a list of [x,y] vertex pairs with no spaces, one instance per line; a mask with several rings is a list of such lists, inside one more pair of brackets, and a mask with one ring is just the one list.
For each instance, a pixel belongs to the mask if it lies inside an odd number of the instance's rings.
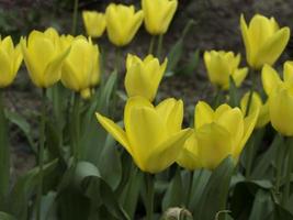
[[274,33],[256,54],[256,67],[260,68],[263,64],[273,65],[284,51],[290,38],[290,29],[283,28]]

